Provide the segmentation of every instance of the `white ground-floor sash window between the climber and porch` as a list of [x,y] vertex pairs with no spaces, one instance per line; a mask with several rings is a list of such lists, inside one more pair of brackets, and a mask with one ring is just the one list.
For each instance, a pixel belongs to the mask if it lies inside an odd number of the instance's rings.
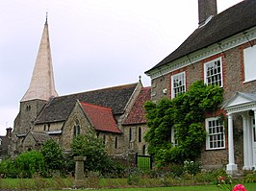
[[[205,119],[205,129],[207,132],[207,138],[206,138],[206,150],[220,150],[220,149],[225,149],[226,148],[226,141],[225,141],[225,128],[224,125],[221,124],[218,121],[218,117],[211,117],[211,118],[206,118]],[[210,131],[209,129],[209,122],[212,121],[215,123],[218,123],[218,125],[213,126],[213,131]],[[220,131],[222,129],[222,131]],[[222,139],[219,139],[219,136],[221,137],[222,134]],[[214,138],[214,140],[211,140],[211,137]],[[211,141],[213,142],[213,144],[217,144],[217,146],[215,147],[211,147]],[[218,146],[218,142],[222,142],[222,146]]]

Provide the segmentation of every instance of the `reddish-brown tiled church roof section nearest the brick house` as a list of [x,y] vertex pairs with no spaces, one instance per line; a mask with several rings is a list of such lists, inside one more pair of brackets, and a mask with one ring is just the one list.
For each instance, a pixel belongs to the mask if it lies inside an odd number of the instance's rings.
[[150,100],[151,87],[143,87],[134,106],[129,112],[122,125],[146,123],[144,103]]

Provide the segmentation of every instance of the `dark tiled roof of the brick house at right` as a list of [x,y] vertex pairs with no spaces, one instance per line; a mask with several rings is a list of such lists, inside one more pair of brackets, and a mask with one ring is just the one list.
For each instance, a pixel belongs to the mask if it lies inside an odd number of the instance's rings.
[[145,73],[256,26],[255,17],[256,1],[243,0],[226,11],[218,13],[204,26],[197,28],[166,59],[160,61]]

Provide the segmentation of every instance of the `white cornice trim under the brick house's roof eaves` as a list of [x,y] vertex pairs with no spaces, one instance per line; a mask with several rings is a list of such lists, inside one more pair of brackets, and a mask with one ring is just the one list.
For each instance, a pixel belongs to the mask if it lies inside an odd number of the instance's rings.
[[[155,68],[154,70],[146,73],[146,75],[148,75],[151,78],[151,80],[157,79],[177,69],[192,65],[193,63],[198,62],[200,60],[205,60],[219,53],[228,51],[232,48],[235,48],[248,42],[248,40],[253,39],[256,39],[256,27],[253,27],[250,30],[246,31],[246,36],[244,36],[243,33],[240,33],[236,36],[231,36],[220,41],[219,43],[212,44],[207,48],[200,49],[190,54],[190,59],[187,56],[184,56],[178,60],[174,60],[173,62],[159,66],[158,68]],[[219,44],[221,44],[221,48],[219,47]]]

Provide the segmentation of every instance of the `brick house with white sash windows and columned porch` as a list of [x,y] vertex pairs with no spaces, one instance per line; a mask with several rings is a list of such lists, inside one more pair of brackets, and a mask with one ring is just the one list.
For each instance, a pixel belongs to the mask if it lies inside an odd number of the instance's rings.
[[[174,98],[198,80],[224,89],[218,113],[205,120],[208,132],[198,160],[205,168],[233,174],[256,168],[256,1],[217,13],[217,0],[198,0],[199,26],[175,51],[145,73],[151,98]],[[165,95],[165,94],[166,95]],[[226,116],[218,121],[219,113]]]

